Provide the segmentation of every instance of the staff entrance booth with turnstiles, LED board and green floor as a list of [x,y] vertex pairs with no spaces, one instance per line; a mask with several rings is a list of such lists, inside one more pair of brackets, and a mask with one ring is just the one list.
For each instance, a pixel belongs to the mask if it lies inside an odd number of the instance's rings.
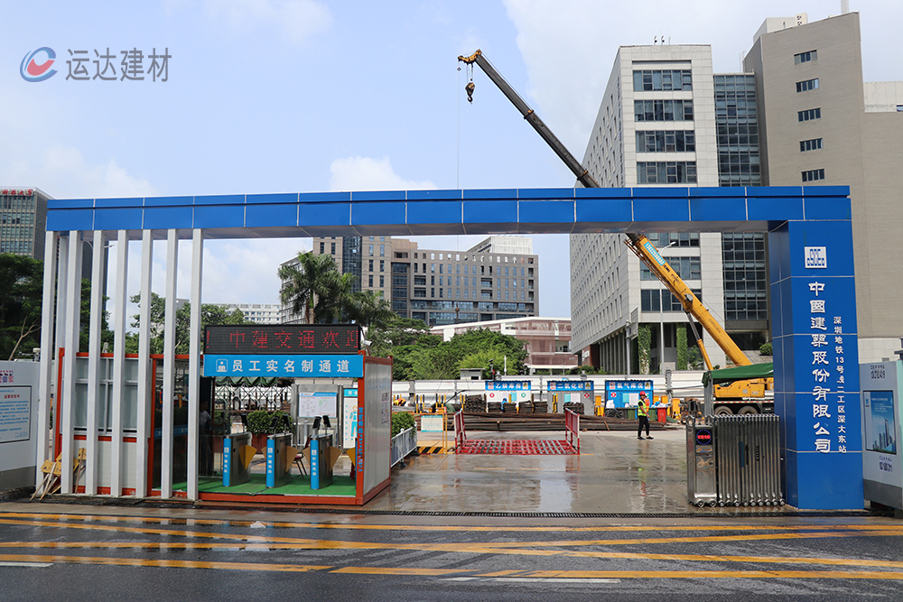
[[[294,384],[288,412],[269,417],[272,434],[224,437],[221,477],[200,477],[200,499],[354,505],[388,485],[392,364],[360,341],[347,324],[208,327],[205,376]],[[334,474],[344,455],[349,474]]]

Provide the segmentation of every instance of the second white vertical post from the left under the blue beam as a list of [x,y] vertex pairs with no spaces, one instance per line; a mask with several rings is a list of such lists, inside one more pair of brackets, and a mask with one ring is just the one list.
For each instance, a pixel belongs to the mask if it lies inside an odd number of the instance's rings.
[[61,387],[60,427],[62,436],[62,477],[61,492],[71,494],[75,491],[72,483],[73,430],[72,414],[75,408],[75,357],[79,353],[79,329],[81,308],[81,236],[78,230],[69,233],[69,257],[67,261],[66,291],[66,325],[63,328],[63,347],[66,356],[63,358],[63,383]]

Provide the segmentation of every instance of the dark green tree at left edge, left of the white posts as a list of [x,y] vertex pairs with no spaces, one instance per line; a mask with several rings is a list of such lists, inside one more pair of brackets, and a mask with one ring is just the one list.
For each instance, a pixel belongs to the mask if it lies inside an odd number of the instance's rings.
[[14,359],[40,345],[43,262],[0,255],[0,357]]

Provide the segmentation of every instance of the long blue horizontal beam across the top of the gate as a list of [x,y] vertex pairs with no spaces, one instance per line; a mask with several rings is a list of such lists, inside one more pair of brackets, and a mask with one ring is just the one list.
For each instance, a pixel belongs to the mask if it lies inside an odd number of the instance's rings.
[[47,229],[179,230],[190,238],[767,232],[850,219],[846,186],[292,192],[51,199]]

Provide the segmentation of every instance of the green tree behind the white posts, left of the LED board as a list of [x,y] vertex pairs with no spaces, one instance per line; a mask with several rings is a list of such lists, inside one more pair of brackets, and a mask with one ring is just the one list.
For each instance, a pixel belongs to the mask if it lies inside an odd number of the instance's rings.
[[[131,301],[141,306],[141,295],[131,297]],[[166,320],[166,300],[155,292],[151,292],[151,320],[149,333],[151,335],[151,353],[163,353],[163,325]],[[202,303],[200,305],[200,336],[203,337],[204,328],[219,325],[254,324],[245,320],[245,314],[241,310],[228,311],[222,305],[214,303]],[[135,314],[132,320],[132,328],[141,329],[141,316]],[[191,341],[191,303],[185,303],[175,312],[175,352],[187,354],[190,351]],[[126,353],[138,352],[138,333],[130,332],[126,335]]]

